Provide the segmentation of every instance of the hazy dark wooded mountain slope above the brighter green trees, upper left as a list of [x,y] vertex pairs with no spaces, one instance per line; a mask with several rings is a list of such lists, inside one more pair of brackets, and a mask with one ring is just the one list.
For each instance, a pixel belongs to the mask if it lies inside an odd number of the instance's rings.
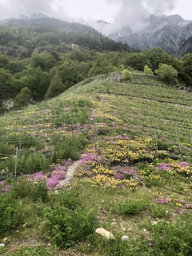
[[89,26],[46,16],[38,17],[5,20],[4,25],[0,26],[0,49],[11,48],[18,53],[25,48],[23,52],[28,50],[29,55],[31,50],[46,44],[58,48],[59,45],[62,47],[62,43],[69,44],[68,47],[73,43],[97,51],[131,51],[128,45],[116,43]]

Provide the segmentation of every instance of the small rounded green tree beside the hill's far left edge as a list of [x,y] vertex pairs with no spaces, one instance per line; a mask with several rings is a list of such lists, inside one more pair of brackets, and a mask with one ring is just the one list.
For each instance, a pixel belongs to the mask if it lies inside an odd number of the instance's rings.
[[14,108],[25,107],[31,103],[32,93],[28,87],[22,88],[19,94],[15,97],[13,102]]

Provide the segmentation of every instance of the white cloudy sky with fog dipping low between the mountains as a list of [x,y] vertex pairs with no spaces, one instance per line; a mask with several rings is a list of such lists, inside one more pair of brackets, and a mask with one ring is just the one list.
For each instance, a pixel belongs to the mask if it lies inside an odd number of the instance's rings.
[[[181,0],[0,0],[0,19],[30,16],[42,12],[66,21],[79,21],[96,26],[95,20],[105,20],[112,26],[101,27],[104,34],[130,26],[138,31],[148,26],[150,14],[169,15]],[[188,0],[186,0],[188,2]],[[187,9],[187,8],[186,8]],[[179,14],[179,13],[178,13]],[[109,16],[112,18],[109,19]]]

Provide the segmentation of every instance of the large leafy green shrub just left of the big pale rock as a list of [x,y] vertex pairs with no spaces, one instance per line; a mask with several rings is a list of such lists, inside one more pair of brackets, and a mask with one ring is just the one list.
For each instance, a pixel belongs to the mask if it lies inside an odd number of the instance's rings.
[[92,210],[69,210],[56,205],[53,209],[44,209],[44,226],[47,229],[46,238],[57,246],[66,248],[92,234],[96,220]]

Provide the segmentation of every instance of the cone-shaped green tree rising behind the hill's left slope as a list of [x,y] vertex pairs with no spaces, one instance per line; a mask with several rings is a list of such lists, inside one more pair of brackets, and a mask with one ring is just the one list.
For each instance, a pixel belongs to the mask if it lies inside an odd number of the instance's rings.
[[53,98],[61,94],[66,89],[66,86],[61,81],[59,73],[56,72],[51,80],[50,86],[47,89],[47,92],[44,98]]

